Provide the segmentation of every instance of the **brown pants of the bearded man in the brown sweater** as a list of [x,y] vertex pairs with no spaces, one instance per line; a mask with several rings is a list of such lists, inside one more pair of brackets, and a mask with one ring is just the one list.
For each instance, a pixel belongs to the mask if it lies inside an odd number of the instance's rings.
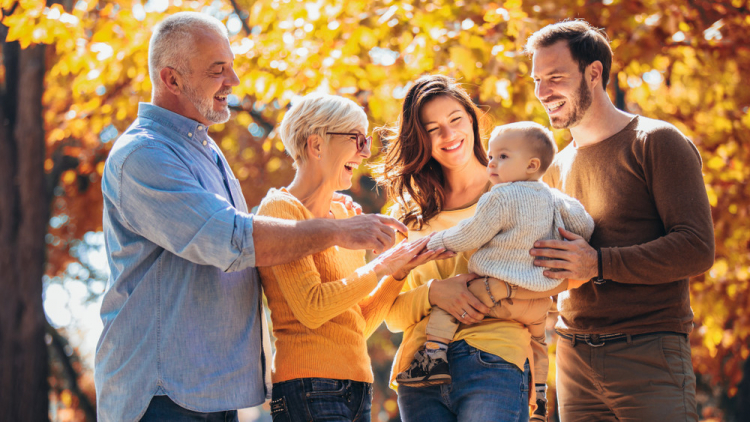
[[600,347],[573,343],[557,340],[562,422],[698,420],[687,336],[653,333]]

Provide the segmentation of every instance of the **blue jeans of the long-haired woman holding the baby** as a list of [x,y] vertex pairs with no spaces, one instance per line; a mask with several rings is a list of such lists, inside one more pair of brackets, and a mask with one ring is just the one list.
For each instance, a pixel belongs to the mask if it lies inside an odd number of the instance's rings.
[[461,340],[448,347],[448,363],[451,384],[398,387],[404,422],[528,422],[528,361],[522,372]]

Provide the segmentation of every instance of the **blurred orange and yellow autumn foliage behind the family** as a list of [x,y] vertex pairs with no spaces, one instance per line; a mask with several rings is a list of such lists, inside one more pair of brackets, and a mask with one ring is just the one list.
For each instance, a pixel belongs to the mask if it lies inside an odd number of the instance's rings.
[[[68,252],[76,240],[101,229],[102,162],[134,119],[138,102],[149,100],[150,28],[167,13],[202,10],[232,32],[241,84],[234,90],[232,120],[211,133],[250,206],[269,187],[291,180],[291,161],[273,129],[295,96],[316,89],[350,96],[379,126],[394,122],[410,81],[439,72],[465,83],[496,123],[547,124],[521,51],[527,36],[570,17],[604,27],[615,52],[611,85],[620,90],[611,86],[611,94],[623,94],[631,112],[675,124],[703,156],[717,260],[692,283],[694,364],[704,380],[729,396],[736,391],[738,368],[750,355],[747,0],[237,0],[239,10],[231,2],[207,0],[146,6],[79,0],[72,10],[24,0],[9,13],[14,3],[2,0],[8,40],[50,45],[43,100],[45,169],[54,170],[56,154],[78,159],[61,174],[52,202],[53,216],[64,216],[65,222],[50,227],[50,275],[75,260]],[[569,141],[567,132],[556,136],[561,145]],[[383,198],[362,186],[353,191],[369,195],[365,201],[375,209],[382,206]],[[372,341],[378,344],[371,349],[374,364],[387,371],[390,336],[378,333]],[[389,397],[376,404],[376,412],[395,415]]]

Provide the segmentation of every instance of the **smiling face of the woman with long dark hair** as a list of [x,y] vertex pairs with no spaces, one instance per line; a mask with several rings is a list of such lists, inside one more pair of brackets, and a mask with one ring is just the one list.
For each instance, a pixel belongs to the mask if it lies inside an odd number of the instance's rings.
[[419,118],[432,143],[432,157],[444,170],[461,169],[476,159],[473,121],[458,101],[447,96],[430,100]]

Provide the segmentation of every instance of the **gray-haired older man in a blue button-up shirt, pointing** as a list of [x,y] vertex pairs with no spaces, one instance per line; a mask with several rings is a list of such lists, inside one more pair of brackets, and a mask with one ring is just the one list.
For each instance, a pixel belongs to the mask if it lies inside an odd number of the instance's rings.
[[226,29],[206,15],[172,15],[151,38],[152,103],[139,106],[102,180],[111,276],[96,353],[100,421],[236,420],[270,393],[254,267],[333,245],[382,251],[394,228],[405,231],[379,215],[248,214],[207,134],[229,119],[233,61]]

